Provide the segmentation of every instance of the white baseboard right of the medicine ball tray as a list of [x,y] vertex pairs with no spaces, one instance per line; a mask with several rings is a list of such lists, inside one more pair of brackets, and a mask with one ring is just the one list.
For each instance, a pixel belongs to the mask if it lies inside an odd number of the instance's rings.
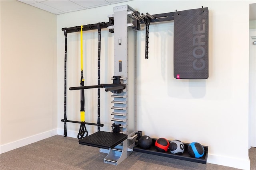
[[239,159],[234,157],[208,154],[207,163],[229,166],[243,170],[250,170],[250,159]]

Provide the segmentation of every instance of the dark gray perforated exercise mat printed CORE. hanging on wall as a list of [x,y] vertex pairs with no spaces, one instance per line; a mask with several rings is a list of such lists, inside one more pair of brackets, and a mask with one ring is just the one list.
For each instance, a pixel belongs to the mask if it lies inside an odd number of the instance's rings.
[[208,78],[208,8],[174,14],[174,78]]

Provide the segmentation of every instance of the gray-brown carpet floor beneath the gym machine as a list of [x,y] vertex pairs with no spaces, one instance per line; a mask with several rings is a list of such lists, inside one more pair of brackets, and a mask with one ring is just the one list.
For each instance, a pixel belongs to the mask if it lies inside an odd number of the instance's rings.
[[[249,150],[251,170],[256,170],[256,148]],[[236,170],[133,152],[118,166],[104,163],[99,148],[79,145],[74,138],[56,135],[0,154],[1,170]]]

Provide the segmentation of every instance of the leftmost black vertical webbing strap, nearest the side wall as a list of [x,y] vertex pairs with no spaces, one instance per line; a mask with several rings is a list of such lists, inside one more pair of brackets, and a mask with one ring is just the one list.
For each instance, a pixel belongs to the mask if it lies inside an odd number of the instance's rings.
[[65,63],[64,63],[64,137],[67,137],[67,31],[66,29],[63,30],[65,35]]

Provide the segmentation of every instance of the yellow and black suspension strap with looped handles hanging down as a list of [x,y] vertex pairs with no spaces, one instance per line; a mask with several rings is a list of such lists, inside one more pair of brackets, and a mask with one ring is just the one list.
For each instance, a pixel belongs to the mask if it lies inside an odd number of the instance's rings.
[[[81,25],[80,30],[80,44],[81,44],[81,78],[80,78],[80,86],[84,86],[84,76],[83,76],[83,25]],[[80,90],[80,118],[81,122],[85,122],[85,101],[84,101],[84,89]],[[77,135],[77,139],[83,139],[88,136],[88,131],[86,130],[86,126],[84,123],[80,124],[79,132]]]

